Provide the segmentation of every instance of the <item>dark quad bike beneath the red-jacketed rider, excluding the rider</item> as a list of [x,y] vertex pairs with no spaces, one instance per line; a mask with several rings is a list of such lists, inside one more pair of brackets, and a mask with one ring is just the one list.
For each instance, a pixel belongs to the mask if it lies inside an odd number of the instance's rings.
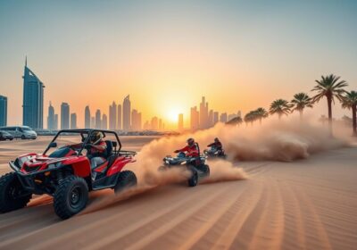
[[[198,144],[196,146],[199,152]],[[210,176],[210,167],[205,164],[206,156],[201,154],[198,157],[190,157],[181,152],[176,157],[168,155],[162,161],[163,166],[159,171],[167,171],[171,168],[185,168],[190,171],[190,177],[187,179],[188,187],[195,187],[200,179]]]

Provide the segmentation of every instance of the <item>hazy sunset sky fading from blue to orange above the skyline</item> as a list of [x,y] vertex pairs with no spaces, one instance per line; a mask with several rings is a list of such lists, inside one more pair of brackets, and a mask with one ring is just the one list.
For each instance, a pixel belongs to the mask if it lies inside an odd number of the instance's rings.
[[21,124],[25,55],[46,85],[45,127],[50,101],[56,113],[68,102],[83,126],[85,105],[108,114],[129,94],[144,121],[169,123],[201,96],[219,112],[268,109],[321,74],[357,90],[356,13],[352,0],[1,1],[0,95],[8,124]]

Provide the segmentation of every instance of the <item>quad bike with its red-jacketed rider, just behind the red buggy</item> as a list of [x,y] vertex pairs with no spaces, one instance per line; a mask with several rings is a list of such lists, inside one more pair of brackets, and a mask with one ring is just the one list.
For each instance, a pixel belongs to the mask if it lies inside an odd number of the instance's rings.
[[176,157],[170,155],[163,158],[163,166],[159,171],[166,171],[172,167],[185,167],[191,172],[191,176],[187,179],[189,187],[195,187],[198,180],[210,175],[210,167],[205,164],[206,157],[200,154],[200,147],[193,138],[187,139],[187,146],[175,150],[178,153]]

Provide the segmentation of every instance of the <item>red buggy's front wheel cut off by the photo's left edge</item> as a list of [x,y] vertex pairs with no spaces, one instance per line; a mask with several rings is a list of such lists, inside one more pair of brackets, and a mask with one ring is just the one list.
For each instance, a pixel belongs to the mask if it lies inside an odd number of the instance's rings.
[[0,177],[0,212],[10,212],[25,207],[32,194],[27,192],[17,178],[10,172]]

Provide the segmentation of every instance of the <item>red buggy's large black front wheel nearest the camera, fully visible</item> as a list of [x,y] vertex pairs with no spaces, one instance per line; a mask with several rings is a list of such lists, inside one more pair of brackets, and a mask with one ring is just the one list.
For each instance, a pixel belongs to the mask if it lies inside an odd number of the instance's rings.
[[54,192],[54,212],[63,220],[83,210],[87,205],[88,187],[85,179],[68,176]]

